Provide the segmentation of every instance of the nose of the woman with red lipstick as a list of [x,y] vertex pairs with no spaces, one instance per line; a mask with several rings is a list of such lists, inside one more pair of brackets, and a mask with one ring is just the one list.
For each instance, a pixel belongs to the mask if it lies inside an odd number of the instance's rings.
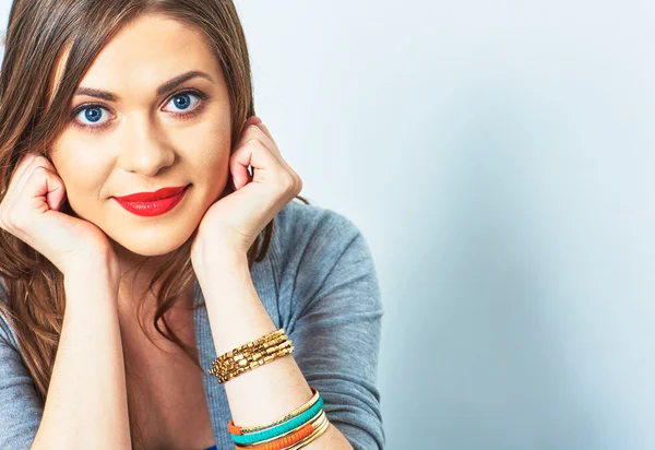
[[[126,123],[127,125],[127,123]],[[126,171],[154,177],[175,162],[165,133],[147,120],[130,120],[121,142],[118,165]]]

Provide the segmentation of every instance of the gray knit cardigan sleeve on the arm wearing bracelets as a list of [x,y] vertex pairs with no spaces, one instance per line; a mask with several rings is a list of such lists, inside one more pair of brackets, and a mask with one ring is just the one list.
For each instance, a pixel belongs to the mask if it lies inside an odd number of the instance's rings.
[[293,247],[303,250],[294,250],[301,254],[291,264],[296,276],[287,330],[294,358],[322,395],[329,421],[354,449],[383,449],[377,387],[383,309],[371,252],[343,215],[300,208],[306,212],[293,226],[305,230],[294,234]]

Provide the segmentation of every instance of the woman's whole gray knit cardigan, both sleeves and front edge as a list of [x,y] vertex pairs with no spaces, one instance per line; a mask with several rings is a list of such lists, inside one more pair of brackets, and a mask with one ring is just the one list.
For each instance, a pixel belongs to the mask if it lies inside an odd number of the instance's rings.
[[[377,387],[383,309],[358,228],[334,211],[294,200],[277,214],[269,253],[251,274],[273,322],[294,342],[291,356],[323,396],[330,422],[356,450],[383,449]],[[198,283],[195,294],[198,305]],[[204,307],[195,311],[195,341],[216,447],[234,449],[225,388],[206,374],[217,355]],[[0,449],[28,449],[44,408],[17,347],[0,315]]]

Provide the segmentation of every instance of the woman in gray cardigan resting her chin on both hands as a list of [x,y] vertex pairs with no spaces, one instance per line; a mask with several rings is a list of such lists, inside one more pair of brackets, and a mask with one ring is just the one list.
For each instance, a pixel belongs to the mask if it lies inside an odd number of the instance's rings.
[[0,137],[0,448],[383,447],[369,249],[231,2],[14,1]]

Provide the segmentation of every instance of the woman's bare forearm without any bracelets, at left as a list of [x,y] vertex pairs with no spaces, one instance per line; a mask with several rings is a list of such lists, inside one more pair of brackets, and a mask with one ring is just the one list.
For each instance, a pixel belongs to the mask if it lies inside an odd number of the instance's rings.
[[116,297],[103,264],[64,279],[66,315],[33,448],[129,449],[130,428]]

